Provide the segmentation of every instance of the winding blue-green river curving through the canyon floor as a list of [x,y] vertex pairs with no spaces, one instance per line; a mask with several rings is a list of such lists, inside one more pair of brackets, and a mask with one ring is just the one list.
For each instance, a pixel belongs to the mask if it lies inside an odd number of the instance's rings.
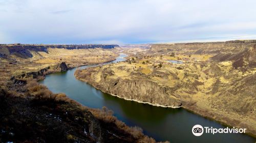
[[[114,61],[125,60],[125,54]],[[87,68],[90,66],[82,66]],[[191,129],[200,124],[203,127],[225,128],[225,126],[193,114],[183,108],[163,108],[148,104],[126,101],[104,93],[74,77],[76,68],[50,74],[40,81],[54,93],[66,93],[68,97],[91,108],[108,107],[114,115],[126,125],[139,126],[143,132],[159,141],[170,142],[255,142],[256,139],[246,134],[203,134],[194,136]]]

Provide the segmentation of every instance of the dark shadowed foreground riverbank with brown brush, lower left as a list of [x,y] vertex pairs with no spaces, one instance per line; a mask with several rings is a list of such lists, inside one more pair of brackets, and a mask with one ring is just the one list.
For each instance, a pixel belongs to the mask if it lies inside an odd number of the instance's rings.
[[106,108],[84,107],[63,93],[54,94],[35,81],[26,82],[19,84],[28,89],[26,96],[0,88],[0,141],[156,142],[139,127],[118,121]]

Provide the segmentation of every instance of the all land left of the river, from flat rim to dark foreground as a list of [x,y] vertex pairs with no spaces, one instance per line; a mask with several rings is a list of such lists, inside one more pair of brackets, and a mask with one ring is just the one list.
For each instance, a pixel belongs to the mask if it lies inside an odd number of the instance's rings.
[[[156,142],[105,107],[92,109],[36,81],[116,59],[118,45],[0,45],[0,141]],[[24,132],[26,131],[26,132]]]

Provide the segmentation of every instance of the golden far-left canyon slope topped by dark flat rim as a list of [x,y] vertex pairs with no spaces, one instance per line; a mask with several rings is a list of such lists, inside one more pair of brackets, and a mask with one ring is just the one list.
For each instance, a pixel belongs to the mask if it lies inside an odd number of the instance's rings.
[[119,49],[118,45],[0,45],[0,85],[12,76],[37,76],[38,71],[43,76],[44,72],[113,61]]

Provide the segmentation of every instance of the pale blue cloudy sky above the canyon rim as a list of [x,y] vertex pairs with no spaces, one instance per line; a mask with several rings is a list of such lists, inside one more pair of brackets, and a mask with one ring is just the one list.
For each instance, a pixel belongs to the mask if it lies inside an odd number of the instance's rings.
[[255,0],[0,0],[0,43],[256,39]]

